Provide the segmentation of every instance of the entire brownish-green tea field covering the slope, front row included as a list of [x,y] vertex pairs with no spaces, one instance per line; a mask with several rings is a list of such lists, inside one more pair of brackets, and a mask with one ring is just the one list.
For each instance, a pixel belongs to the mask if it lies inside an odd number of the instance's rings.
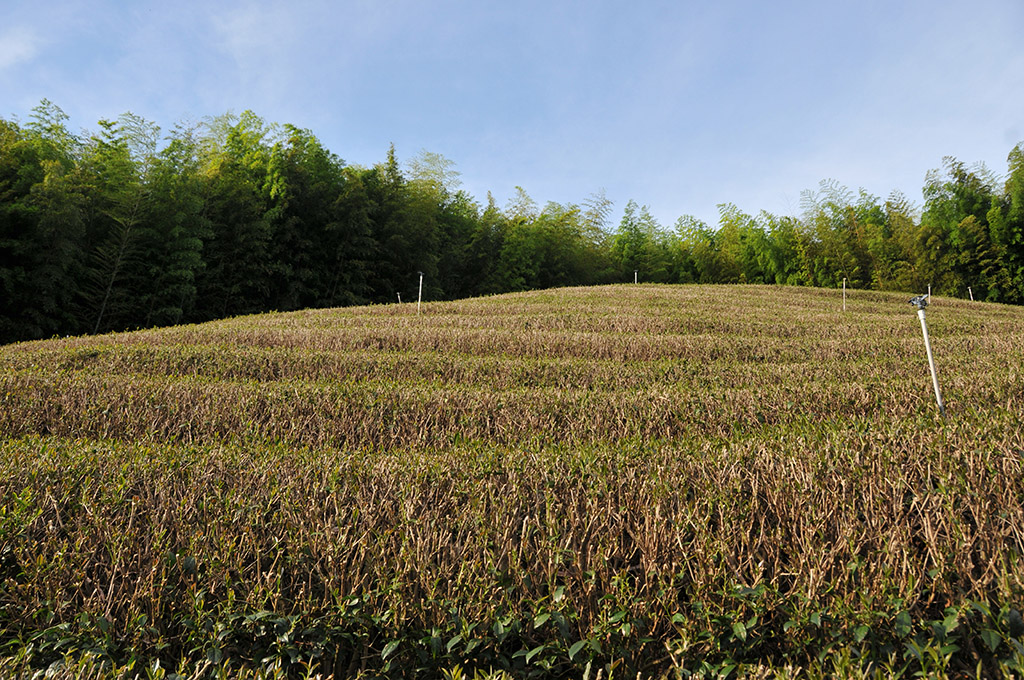
[[1019,664],[1024,310],[929,308],[943,421],[905,300],[620,286],[0,347],[0,645]]

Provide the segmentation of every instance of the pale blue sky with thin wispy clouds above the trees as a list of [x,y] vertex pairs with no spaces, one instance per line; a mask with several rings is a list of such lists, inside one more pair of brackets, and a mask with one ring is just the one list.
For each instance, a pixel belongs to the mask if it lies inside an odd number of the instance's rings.
[[666,227],[801,213],[835,180],[923,204],[1024,141],[1021,0],[13,0],[0,117],[76,131],[251,110],[345,162],[440,154],[480,203],[603,192]]

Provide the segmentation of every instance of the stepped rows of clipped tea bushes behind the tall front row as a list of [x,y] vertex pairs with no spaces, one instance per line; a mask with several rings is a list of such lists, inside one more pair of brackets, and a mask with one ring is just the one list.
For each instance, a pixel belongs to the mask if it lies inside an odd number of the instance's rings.
[[[932,410],[905,296],[608,287],[239,317],[0,350],[20,434],[436,447],[730,434]],[[1009,407],[1024,313],[943,300],[950,410]]]

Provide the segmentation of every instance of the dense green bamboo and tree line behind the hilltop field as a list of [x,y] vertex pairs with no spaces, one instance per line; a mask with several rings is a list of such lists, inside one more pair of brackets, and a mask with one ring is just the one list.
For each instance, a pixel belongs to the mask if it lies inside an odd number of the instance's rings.
[[999,179],[946,158],[925,204],[835,181],[802,214],[719,207],[660,225],[603,193],[539,207],[460,188],[443,156],[349,165],[315,135],[132,114],[74,134],[43,101],[0,119],[0,342],[236,314],[632,281],[768,283],[1024,300],[1024,145]]

